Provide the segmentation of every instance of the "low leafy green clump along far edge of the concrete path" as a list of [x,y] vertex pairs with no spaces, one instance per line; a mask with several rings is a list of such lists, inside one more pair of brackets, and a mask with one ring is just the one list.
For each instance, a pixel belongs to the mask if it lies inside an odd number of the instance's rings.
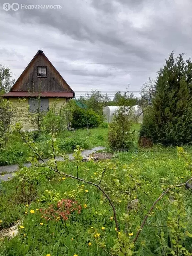
[[61,139],[59,142],[59,148],[69,152],[76,148],[76,146],[79,145],[80,148],[88,148],[88,142],[86,140],[83,140],[81,138],[66,138]]

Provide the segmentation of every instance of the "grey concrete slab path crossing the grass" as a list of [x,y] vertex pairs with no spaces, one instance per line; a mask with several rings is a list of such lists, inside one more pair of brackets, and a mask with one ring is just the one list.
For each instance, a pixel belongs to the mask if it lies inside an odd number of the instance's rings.
[[[105,147],[95,147],[92,149],[85,149],[81,152],[82,156],[88,156],[92,153],[95,153],[98,150],[103,150],[106,149]],[[71,154],[67,154],[69,156],[69,159],[72,160],[74,159],[73,157],[73,153]],[[49,160],[49,158],[43,159],[45,162],[47,162]],[[56,157],[57,161],[64,161],[63,157]],[[41,163],[42,161],[39,160],[39,162]],[[24,164],[24,166],[26,167],[30,167],[31,163],[26,163]],[[0,182],[1,180],[3,181],[7,181],[9,179],[13,179],[14,177],[12,176],[12,173],[14,173],[15,171],[17,171],[19,169],[19,165],[18,164],[14,164],[14,165],[6,165],[6,166],[0,166]]]

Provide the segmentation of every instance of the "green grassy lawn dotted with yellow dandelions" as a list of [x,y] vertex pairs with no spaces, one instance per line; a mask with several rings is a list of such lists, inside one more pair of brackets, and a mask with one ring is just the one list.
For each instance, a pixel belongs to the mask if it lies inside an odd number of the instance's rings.
[[[87,138],[90,147],[107,146],[107,129],[91,129],[90,137],[87,137],[86,132],[86,130],[65,132],[65,136]],[[192,153],[192,147],[185,149],[189,154]],[[99,175],[107,168],[107,163],[110,161],[113,163],[113,168],[106,169],[101,187],[113,200],[120,231],[123,234],[127,229],[127,233],[131,234],[128,236],[129,240],[132,241],[149,208],[163,192],[162,186],[166,188],[169,184],[186,181],[191,171],[189,165],[178,157],[175,148],[163,148],[157,145],[149,149],[139,148],[137,151],[115,152],[114,157],[107,161],[80,162],[78,176],[86,181],[98,183]],[[76,175],[77,163],[59,162],[58,169]],[[28,170],[29,173],[35,174],[33,168]],[[44,168],[41,168],[41,172],[43,170]],[[47,254],[95,256],[110,255],[109,253],[117,255],[111,251],[118,237],[114,219],[110,219],[113,217],[113,211],[96,187],[51,171],[34,177],[34,181],[31,182],[31,195],[28,195],[27,186],[26,191],[20,195],[21,184],[17,179],[1,183],[0,189],[0,220],[3,220],[0,227],[7,227],[17,219],[22,221],[23,226],[16,237],[1,239],[0,256],[46,256]],[[124,196],[130,197],[131,200],[138,199],[137,208],[127,212],[128,202],[123,200]],[[19,198],[20,203],[18,203]],[[51,204],[55,207],[63,198],[78,201],[78,205],[82,207],[81,212],[79,214],[73,212],[66,221],[57,219],[57,216],[52,220],[42,217]],[[178,202],[179,210],[176,207]],[[30,210],[34,210],[35,213],[30,213]],[[178,211],[180,216],[178,223],[182,226],[180,229],[177,226]],[[182,187],[175,190],[174,194],[167,194],[158,202],[153,212],[135,244],[134,255],[192,255],[192,238],[186,235],[186,230],[192,233],[191,192]],[[128,215],[123,215],[124,213]],[[170,214],[173,223],[169,219]],[[102,227],[105,229],[102,230]],[[173,247],[174,232],[179,234],[176,235],[176,242],[178,239],[178,244],[186,248],[189,254],[184,254],[185,250],[183,253],[180,250],[177,254],[177,249]],[[104,246],[103,249],[99,244]]]

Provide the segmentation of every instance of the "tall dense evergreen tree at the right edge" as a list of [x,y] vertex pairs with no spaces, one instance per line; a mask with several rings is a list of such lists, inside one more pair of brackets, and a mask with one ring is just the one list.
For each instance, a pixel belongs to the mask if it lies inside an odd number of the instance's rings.
[[160,69],[140,136],[166,146],[192,142],[192,63],[183,54],[175,61],[172,52]]

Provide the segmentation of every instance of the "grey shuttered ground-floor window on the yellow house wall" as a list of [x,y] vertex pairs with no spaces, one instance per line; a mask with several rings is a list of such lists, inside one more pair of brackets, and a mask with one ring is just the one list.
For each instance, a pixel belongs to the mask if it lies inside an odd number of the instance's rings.
[[[49,110],[49,100],[47,98],[40,98],[39,101],[39,111]],[[38,99],[29,98],[29,112],[38,112]]]

